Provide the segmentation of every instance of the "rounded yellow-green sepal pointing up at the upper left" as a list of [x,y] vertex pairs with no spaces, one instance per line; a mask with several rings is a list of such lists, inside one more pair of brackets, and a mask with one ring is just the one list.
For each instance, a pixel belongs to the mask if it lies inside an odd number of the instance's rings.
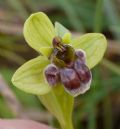
[[41,47],[50,47],[55,37],[55,29],[42,12],[32,14],[24,24],[24,37],[27,43],[40,52]]

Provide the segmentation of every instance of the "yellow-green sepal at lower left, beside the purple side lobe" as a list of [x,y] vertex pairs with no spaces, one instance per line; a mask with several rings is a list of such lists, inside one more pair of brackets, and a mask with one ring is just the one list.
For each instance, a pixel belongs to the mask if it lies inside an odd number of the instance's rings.
[[12,83],[19,89],[43,95],[50,91],[50,86],[44,78],[44,68],[50,62],[44,56],[34,58],[22,65],[13,75]]

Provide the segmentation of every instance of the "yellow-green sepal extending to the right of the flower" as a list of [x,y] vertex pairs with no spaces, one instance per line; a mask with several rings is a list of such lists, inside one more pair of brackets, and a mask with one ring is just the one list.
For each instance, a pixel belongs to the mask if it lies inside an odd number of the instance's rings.
[[107,41],[105,36],[100,33],[89,33],[73,40],[70,45],[86,52],[87,65],[91,69],[103,58]]

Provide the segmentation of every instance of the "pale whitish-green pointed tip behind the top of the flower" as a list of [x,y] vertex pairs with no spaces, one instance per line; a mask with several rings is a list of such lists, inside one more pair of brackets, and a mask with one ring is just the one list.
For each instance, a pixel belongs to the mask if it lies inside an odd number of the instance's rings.
[[59,22],[55,22],[55,32],[57,36],[60,36],[61,38],[66,34],[70,33],[68,29],[66,29],[63,25],[61,25]]

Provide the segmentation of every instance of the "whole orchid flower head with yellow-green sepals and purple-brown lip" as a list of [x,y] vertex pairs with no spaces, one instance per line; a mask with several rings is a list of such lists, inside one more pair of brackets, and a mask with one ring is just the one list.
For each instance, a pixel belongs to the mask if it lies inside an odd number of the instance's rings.
[[91,85],[90,69],[99,63],[107,47],[102,34],[74,38],[60,23],[56,22],[54,27],[43,12],[32,14],[26,20],[24,37],[40,56],[21,66],[12,82],[36,95],[47,94],[58,85],[72,96],[85,93]]

